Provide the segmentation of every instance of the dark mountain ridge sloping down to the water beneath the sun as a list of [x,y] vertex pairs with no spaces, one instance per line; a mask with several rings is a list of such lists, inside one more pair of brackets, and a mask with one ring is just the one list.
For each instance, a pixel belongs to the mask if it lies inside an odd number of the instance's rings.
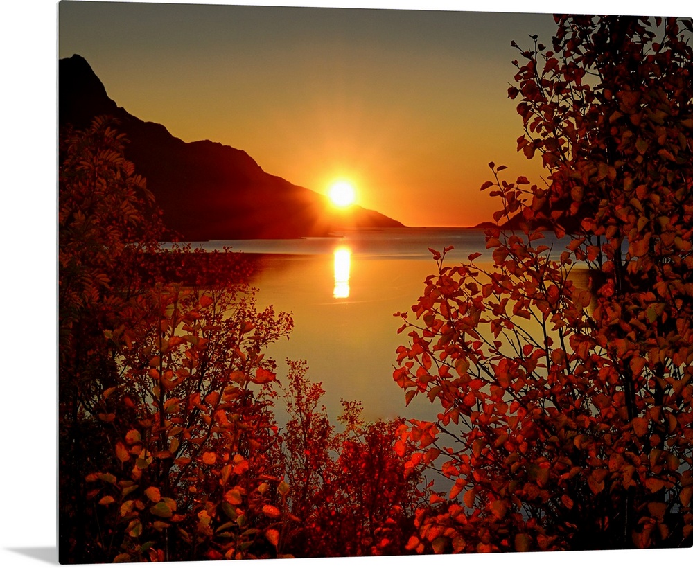
[[58,122],[78,128],[114,116],[125,157],[147,179],[164,223],[184,240],[326,236],[347,227],[403,227],[382,213],[337,211],[324,195],[270,175],[243,150],[209,140],[186,143],[163,125],[116,105],[80,55],[58,66]]

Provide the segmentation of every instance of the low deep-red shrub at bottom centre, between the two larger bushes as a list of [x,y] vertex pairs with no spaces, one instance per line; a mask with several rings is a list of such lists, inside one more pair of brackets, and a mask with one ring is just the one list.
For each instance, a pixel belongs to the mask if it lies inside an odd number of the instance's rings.
[[319,400],[322,384],[305,362],[289,362],[283,444],[295,556],[405,553],[413,531],[421,468],[407,472],[413,447],[398,443],[402,420],[364,423],[358,402],[342,401],[337,432]]

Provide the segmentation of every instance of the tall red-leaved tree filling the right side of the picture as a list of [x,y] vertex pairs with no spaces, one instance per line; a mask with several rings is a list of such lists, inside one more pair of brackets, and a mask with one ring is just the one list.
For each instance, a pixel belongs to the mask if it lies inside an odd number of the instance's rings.
[[693,26],[556,23],[552,51],[518,47],[509,89],[546,183],[491,163],[510,227],[486,233],[492,265],[434,251],[416,322],[401,314],[394,378],[442,407],[403,438],[454,481],[416,551],[692,542]]

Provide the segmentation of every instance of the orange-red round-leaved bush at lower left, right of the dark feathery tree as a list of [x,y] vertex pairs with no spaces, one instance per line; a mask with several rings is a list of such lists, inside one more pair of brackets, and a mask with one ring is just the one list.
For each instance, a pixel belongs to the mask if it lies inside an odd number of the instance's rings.
[[133,309],[150,317],[107,332],[121,384],[104,393],[99,418],[114,459],[87,479],[107,523],[125,530],[104,540],[119,560],[270,553],[283,504],[276,377],[262,350],[290,318],[227,289],[159,285],[140,302]]

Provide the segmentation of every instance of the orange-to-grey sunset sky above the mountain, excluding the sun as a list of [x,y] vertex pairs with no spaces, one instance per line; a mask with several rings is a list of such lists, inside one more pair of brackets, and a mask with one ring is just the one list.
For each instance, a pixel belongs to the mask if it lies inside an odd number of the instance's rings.
[[61,2],[58,55],[85,57],[109,96],[184,141],[240,148],[267,172],[412,226],[469,226],[498,207],[489,161],[516,152],[516,39],[549,15]]

